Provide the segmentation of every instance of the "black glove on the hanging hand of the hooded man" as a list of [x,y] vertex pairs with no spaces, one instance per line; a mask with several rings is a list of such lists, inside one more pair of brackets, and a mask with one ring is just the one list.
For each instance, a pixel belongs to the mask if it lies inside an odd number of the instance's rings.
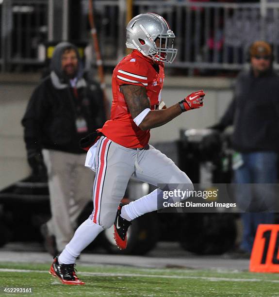
[[42,153],[37,150],[27,151],[28,164],[32,168],[32,175],[40,180],[47,180],[47,168]]

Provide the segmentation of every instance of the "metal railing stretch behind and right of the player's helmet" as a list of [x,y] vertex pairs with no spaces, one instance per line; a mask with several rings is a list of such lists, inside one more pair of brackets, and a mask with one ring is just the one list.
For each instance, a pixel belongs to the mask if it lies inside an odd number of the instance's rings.
[[[95,1],[103,22],[99,36],[105,65],[115,65],[125,54],[122,22],[125,14],[115,2]],[[260,3],[177,0],[134,0],[133,3],[133,15],[155,12],[169,22],[179,49],[172,67],[241,69],[249,45],[263,39],[273,45],[275,66],[279,68],[279,2],[266,3],[265,7]]]

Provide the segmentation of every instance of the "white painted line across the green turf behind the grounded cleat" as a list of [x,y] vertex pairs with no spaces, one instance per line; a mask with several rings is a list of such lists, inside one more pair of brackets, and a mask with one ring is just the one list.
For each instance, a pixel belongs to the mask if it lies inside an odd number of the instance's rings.
[[[44,270],[29,270],[29,269],[10,269],[0,268],[0,272],[38,272],[47,273]],[[79,272],[83,276],[100,276],[100,277],[144,277],[144,278],[161,278],[161,279],[193,279],[193,280],[206,280],[206,281],[265,281],[279,283],[277,280],[262,280],[262,279],[228,279],[228,278],[217,278],[217,277],[199,277],[199,276],[179,276],[179,275],[156,275],[156,274],[128,274],[128,273],[106,273],[106,272]]]

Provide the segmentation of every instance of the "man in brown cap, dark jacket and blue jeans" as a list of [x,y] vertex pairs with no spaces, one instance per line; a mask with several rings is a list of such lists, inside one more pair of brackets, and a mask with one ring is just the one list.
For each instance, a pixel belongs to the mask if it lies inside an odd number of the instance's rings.
[[[244,229],[238,251],[246,255],[251,252],[257,226],[274,223],[274,214],[268,212],[273,198],[268,184],[277,181],[279,151],[279,76],[272,67],[270,45],[254,42],[249,61],[250,69],[236,79],[229,108],[212,127],[220,131],[234,127],[234,182],[239,205],[246,211],[241,215]],[[255,184],[253,190],[249,184]]]

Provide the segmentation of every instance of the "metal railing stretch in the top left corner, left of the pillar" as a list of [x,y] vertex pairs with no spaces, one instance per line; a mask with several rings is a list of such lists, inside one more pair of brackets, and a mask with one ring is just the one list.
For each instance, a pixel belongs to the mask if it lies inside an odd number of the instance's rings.
[[0,6],[2,71],[43,64],[48,0],[4,0]]

